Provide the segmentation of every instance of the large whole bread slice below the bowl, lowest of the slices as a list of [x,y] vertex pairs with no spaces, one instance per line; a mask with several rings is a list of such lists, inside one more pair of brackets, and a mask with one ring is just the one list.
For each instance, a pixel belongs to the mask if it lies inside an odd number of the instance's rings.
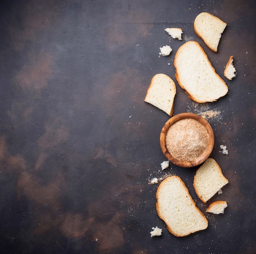
[[157,214],[173,235],[187,236],[208,227],[207,219],[180,177],[164,179],[158,186],[156,198]]

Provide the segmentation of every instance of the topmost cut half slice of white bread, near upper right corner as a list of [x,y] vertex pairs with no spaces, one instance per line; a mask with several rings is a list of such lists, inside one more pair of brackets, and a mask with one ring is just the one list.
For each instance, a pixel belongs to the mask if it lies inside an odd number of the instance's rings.
[[200,13],[194,21],[195,33],[214,52],[217,52],[221,35],[226,26],[227,23],[207,12]]

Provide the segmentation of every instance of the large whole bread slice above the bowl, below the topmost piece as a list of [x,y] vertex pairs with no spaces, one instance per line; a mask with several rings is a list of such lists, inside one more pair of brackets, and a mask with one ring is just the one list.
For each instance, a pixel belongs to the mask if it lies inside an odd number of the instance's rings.
[[228,92],[224,80],[215,72],[198,42],[186,42],[178,49],[175,78],[195,102],[213,102]]

